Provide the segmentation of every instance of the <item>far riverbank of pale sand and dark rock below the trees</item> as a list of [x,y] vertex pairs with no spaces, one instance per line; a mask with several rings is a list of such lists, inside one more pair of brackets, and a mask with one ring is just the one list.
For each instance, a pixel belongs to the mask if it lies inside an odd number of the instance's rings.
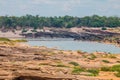
[[[116,30],[117,29],[117,30]],[[119,28],[108,28],[107,30],[101,30],[101,28],[44,28],[26,29],[22,30],[8,30],[7,32],[0,31],[0,37],[6,38],[73,38],[74,40],[81,41],[96,41],[115,44],[120,46],[120,33]]]

